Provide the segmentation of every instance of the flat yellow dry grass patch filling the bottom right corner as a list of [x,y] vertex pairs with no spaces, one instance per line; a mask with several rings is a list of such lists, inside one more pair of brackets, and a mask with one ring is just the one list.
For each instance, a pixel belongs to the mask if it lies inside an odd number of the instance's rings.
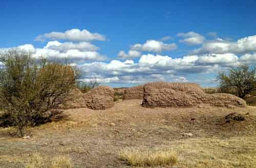
[[186,139],[173,143],[180,154],[179,167],[256,167],[256,138],[231,137]]

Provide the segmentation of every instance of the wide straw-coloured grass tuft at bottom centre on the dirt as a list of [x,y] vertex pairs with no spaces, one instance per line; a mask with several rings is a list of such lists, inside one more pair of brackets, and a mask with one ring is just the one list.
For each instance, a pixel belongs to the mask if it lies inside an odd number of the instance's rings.
[[178,162],[176,152],[167,150],[141,151],[134,148],[125,148],[119,152],[119,159],[134,166],[174,165]]

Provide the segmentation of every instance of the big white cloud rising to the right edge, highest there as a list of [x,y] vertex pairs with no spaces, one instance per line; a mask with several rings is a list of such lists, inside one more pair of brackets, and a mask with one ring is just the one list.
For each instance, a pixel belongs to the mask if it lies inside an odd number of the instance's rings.
[[227,41],[220,38],[214,41],[207,41],[203,43],[202,47],[193,51],[195,54],[245,54],[249,52],[256,52],[256,35],[244,37],[237,41]]

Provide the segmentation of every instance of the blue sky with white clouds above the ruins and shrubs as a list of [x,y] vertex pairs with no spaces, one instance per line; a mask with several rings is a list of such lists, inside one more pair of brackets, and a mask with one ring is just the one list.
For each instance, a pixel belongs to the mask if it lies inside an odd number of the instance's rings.
[[0,53],[68,59],[87,82],[218,86],[256,61],[256,1],[0,1]]

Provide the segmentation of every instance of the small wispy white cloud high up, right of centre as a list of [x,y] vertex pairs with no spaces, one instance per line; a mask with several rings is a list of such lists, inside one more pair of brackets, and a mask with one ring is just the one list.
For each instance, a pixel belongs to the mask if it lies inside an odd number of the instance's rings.
[[178,36],[183,38],[179,40],[180,42],[189,45],[199,45],[202,44],[205,40],[204,36],[195,32],[179,33]]

